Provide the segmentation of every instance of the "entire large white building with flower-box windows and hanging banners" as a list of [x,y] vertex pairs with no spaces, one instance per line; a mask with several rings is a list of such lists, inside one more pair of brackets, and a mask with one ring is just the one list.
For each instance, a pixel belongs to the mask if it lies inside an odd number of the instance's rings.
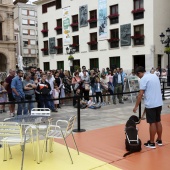
[[37,0],[40,68],[167,66],[159,35],[170,27],[169,0]]

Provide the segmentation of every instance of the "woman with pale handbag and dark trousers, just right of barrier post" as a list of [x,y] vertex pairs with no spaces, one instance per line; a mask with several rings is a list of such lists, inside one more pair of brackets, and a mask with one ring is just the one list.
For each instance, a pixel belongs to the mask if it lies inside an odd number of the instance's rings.
[[90,92],[90,77],[87,76],[86,71],[83,71],[83,76],[81,77],[82,84],[82,95],[84,95],[84,100],[89,101]]

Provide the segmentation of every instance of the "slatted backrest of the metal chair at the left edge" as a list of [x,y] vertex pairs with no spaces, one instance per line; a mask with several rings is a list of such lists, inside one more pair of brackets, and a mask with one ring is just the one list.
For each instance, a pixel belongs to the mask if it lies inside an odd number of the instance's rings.
[[19,137],[22,139],[22,128],[16,122],[0,122],[0,137]]

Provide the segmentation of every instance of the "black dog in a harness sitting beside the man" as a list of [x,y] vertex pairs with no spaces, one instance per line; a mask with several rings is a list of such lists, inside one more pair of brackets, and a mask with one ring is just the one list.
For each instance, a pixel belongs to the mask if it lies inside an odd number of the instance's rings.
[[138,138],[138,130],[136,129],[136,123],[134,120],[129,119],[126,122],[125,135],[125,147],[129,152],[125,153],[123,157],[126,157],[134,152],[140,152],[142,143]]

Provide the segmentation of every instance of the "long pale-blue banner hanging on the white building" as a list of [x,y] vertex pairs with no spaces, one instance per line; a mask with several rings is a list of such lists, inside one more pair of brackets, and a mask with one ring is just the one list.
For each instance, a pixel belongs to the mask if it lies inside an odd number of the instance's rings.
[[99,40],[107,39],[107,0],[98,0]]

